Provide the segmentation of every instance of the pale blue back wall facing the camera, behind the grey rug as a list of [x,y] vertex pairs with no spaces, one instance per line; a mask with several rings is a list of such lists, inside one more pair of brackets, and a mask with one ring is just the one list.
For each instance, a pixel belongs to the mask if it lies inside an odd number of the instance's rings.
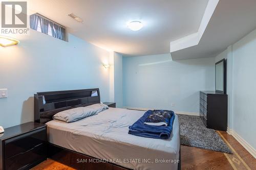
[[198,113],[200,90],[215,90],[215,58],[172,61],[170,54],[123,58],[124,107]]

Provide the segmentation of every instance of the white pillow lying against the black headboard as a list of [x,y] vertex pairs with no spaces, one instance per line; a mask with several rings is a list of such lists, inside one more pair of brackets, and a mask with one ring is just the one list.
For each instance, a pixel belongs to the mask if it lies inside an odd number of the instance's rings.
[[108,108],[109,106],[104,104],[94,104],[86,107],[77,107],[58,112],[53,116],[53,119],[71,123],[76,122],[77,120],[80,120],[84,117],[92,116]]

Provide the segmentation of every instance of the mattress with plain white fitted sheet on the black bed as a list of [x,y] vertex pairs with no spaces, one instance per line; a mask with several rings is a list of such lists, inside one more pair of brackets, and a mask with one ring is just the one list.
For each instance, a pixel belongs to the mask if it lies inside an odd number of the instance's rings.
[[[49,142],[95,158],[108,160],[131,169],[177,169],[180,138],[175,115],[168,140],[128,134],[129,126],[144,111],[109,108],[74,123],[52,120],[47,123]],[[157,160],[168,161],[157,163]]]

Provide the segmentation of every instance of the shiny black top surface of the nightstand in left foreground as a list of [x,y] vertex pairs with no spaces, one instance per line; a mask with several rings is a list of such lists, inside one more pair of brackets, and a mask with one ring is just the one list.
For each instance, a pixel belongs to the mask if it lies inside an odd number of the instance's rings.
[[35,122],[28,122],[26,124],[21,124],[17,126],[13,126],[10,128],[6,128],[4,134],[0,134],[0,140],[6,140],[18,135],[22,135],[24,133],[28,133],[40,128],[46,127],[45,124],[39,124]]

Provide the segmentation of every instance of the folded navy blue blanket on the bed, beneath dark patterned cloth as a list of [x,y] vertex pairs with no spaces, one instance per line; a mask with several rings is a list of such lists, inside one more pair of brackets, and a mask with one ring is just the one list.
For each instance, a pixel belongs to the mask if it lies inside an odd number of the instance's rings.
[[[157,110],[157,111],[161,111],[161,110]],[[166,111],[166,110],[162,110],[162,111]],[[144,125],[146,118],[153,113],[153,110],[148,110],[132,126],[129,127],[128,133],[136,136],[142,136],[142,137],[168,139],[170,137],[170,133],[172,133],[173,123],[175,118],[174,112],[173,111],[169,111],[169,112],[171,114],[171,117],[170,117],[168,126]]]

